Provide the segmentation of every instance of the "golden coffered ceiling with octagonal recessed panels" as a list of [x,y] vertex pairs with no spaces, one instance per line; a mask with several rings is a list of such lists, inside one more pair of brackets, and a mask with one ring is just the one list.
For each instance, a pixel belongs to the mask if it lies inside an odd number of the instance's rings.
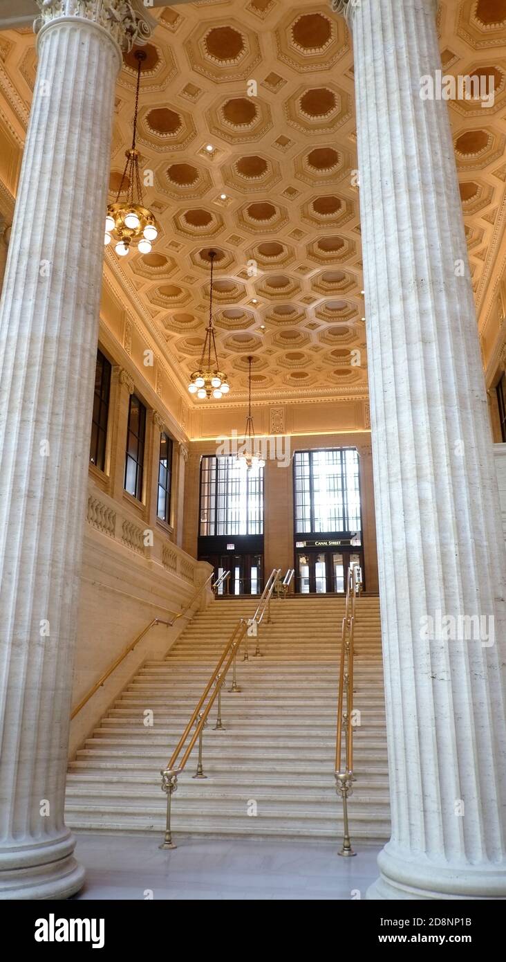
[[[145,198],[160,234],[144,257],[120,262],[108,250],[106,270],[140,320],[156,326],[190,406],[202,405],[186,383],[204,339],[210,248],[231,384],[221,407],[244,402],[249,354],[259,403],[367,397],[344,20],[311,0],[201,0],[150,13],[157,29],[145,48],[138,146],[153,171]],[[494,107],[450,104],[479,307],[506,214],[506,0],[446,0],[439,28],[446,73],[494,76]],[[0,57],[28,107],[34,38],[0,35]],[[131,53],[117,85],[111,200],[132,137],[135,70]]]

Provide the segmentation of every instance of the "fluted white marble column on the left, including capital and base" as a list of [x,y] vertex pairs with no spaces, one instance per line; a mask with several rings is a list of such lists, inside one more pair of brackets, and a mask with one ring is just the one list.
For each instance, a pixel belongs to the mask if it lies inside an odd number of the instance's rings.
[[63,820],[122,0],[39,0],[0,305],[0,898],[82,885]]

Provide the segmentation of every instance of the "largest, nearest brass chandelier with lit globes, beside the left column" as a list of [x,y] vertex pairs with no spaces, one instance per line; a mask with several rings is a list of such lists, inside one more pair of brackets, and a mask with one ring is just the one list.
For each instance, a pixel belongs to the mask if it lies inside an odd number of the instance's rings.
[[[126,152],[127,163],[119,185],[116,200],[108,205],[106,217],[106,246],[110,241],[116,241],[114,250],[118,257],[126,257],[133,243],[141,254],[149,254],[152,241],[157,240],[158,232],[155,217],[146,207],[142,197],[142,182],[139,172],[139,152],[135,142],[137,137],[137,112],[139,106],[140,68],[146,60],[143,50],[135,52],[137,67],[137,88],[135,90],[135,113],[133,114],[132,147]],[[127,185],[128,196],[120,201],[120,194]]]

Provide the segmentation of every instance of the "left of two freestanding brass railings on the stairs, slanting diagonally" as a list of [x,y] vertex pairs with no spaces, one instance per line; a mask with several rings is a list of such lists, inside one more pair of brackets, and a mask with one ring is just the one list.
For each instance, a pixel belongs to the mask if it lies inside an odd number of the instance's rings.
[[[207,718],[209,712],[216,700],[218,698],[218,713],[216,718],[216,724],[214,729],[216,731],[224,731],[225,726],[222,722],[222,689],[227,678],[230,666],[233,666],[232,673],[232,683],[229,688],[229,693],[232,695],[239,694],[241,689],[237,685],[236,676],[236,663],[237,663],[237,652],[244,640],[245,647],[247,649],[247,639],[248,631],[252,626],[252,622],[259,624],[266,611],[268,613],[268,621],[270,620],[270,599],[274,591],[274,587],[277,583],[277,579],[281,573],[280,569],[274,569],[269,580],[264,588],[260,602],[256,611],[254,613],[253,619],[240,618],[237,621],[227,645],[224,647],[221,657],[216,665],[216,668],[212,672],[207,684],[205,685],[204,692],[197,702],[189,722],[187,723],[181,739],[178,742],[177,747],[174,749],[167,765],[161,770],[161,789],[165,792],[167,796],[167,814],[166,814],[166,824],[165,824],[165,834],[163,837],[163,842],[159,848],[177,848],[175,842],[172,838],[171,830],[171,807],[172,807],[172,796],[178,789],[178,775],[183,771],[188,758],[190,757],[193,748],[199,742],[199,757],[197,763],[197,771],[193,775],[194,778],[206,778],[203,767],[203,734],[204,729],[207,724]],[[256,652],[255,652],[256,653]],[[245,659],[248,661],[247,653]],[[195,726],[195,731],[191,735],[190,732]]]

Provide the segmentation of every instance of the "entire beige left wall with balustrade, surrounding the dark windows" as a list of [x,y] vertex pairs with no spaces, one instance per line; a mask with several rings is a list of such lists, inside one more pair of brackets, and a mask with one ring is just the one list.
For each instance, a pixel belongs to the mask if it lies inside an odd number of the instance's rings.
[[[104,285],[99,347],[112,366],[108,439],[104,471],[89,467],[74,709],[146,625],[155,618],[172,620],[171,612],[178,614],[186,607],[211,571],[181,549],[186,435],[176,416],[174,398],[160,387],[156,367],[143,364],[144,343],[134,330],[125,337],[127,323],[125,312]],[[123,488],[132,391],[147,409],[141,502]],[[166,403],[167,398],[171,404]],[[157,519],[161,429],[174,442],[171,518],[167,524]],[[208,601],[205,592],[193,610]],[[90,698],[71,723],[71,757],[139,665],[146,658],[162,657],[184,623],[178,619],[172,628],[154,626]]]

